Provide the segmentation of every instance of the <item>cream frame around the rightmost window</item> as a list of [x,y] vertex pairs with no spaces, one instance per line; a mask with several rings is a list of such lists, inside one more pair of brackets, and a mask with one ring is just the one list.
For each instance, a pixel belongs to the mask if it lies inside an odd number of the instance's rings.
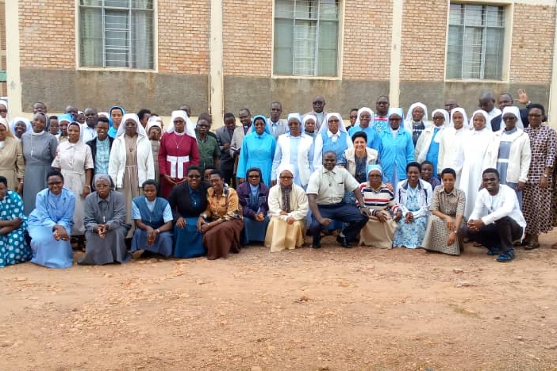
[[[451,15],[451,4],[462,4],[462,5],[483,5],[483,6],[497,6],[503,7],[505,14],[505,27],[504,27],[504,46],[503,46],[503,56],[502,56],[502,66],[501,66],[501,79],[494,80],[490,78],[452,78],[447,77],[447,67],[448,67],[448,40],[449,40],[449,28],[450,28],[450,15]],[[509,83],[510,76],[510,66],[511,66],[511,49],[512,49],[512,29],[514,28],[514,1],[512,0],[454,0],[447,2],[447,13],[446,13],[446,33],[445,33],[445,51],[444,51],[444,68],[443,68],[443,81],[445,82],[472,82],[472,83]],[[485,49],[485,45],[482,45]],[[483,56],[485,58],[485,56]]]

